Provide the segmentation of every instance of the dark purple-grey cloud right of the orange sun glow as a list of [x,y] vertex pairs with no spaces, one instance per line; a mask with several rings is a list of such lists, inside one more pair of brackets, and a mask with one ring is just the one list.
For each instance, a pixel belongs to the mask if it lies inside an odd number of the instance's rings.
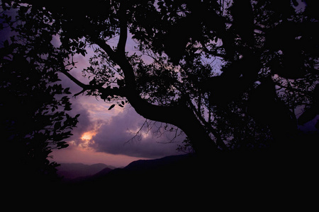
[[[167,136],[172,134],[164,134],[157,138],[158,126],[153,126],[152,130],[140,136],[140,139],[132,139],[134,132],[138,131],[145,119],[130,108],[124,110],[118,115],[111,118],[107,123],[102,124],[99,131],[93,136],[94,143],[91,147],[98,152],[129,155],[141,158],[161,158],[167,155],[176,155],[177,143],[168,143]],[[155,124],[156,125],[156,124]],[[157,132],[157,135],[154,133]],[[182,141],[180,137],[177,140]],[[180,143],[180,142],[179,142]]]

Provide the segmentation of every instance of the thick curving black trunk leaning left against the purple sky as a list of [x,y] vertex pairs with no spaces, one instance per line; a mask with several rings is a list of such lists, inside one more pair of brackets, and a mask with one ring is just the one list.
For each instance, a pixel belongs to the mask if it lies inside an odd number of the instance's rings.
[[[123,28],[123,31],[124,30],[125,28]],[[126,33],[122,33],[123,31],[121,31],[120,38],[127,36]],[[145,117],[145,119],[173,124],[179,127],[179,129],[184,131],[186,136],[189,137],[194,151],[196,151],[198,155],[207,157],[218,151],[216,143],[211,139],[194,112],[187,107],[186,104],[180,102],[179,105],[159,106],[142,99],[136,88],[133,67],[125,57],[125,52],[114,52],[104,40],[95,38],[94,42],[99,45],[116,64],[121,66],[125,77],[123,96],[128,99],[128,102],[130,102],[130,105],[132,105],[138,114]],[[124,39],[122,39],[122,42],[125,42]]]

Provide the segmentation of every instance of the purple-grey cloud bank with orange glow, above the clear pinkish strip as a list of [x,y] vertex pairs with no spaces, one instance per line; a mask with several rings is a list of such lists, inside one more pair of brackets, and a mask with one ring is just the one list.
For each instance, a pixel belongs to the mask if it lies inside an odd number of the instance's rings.
[[[87,51],[86,57],[74,56],[77,68],[70,71],[72,76],[82,83],[89,83],[88,78],[82,76],[82,70],[89,66],[88,58],[93,54],[93,49],[87,49]],[[59,77],[62,80],[62,86],[70,88],[72,95],[82,90],[62,73],[59,74]],[[129,105],[126,105],[124,109],[114,107],[113,110],[108,110],[111,103],[101,99],[96,100],[92,96],[78,95],[77,98],[72,98],[72,95],[69,96],[72,102],[72,111],[69,114],[72,116],[80,114],[77,128],[72,131],[74,136],[68,139],[70,144],[68,149],[73,150],[73,153],[76,153],[75,150],[82,149],[82,151],[139,158],[161,158],[178,154],[176,151],[177,143],[167,143],[169,141],[167,137],[172,138],[174,135],[164,134],[157,138],[159,134],[163,133],[163,129],[159,128],[161,124],[155,124],[149,134],[142,134],[140,140],[132,139],[135,135],[134,132],[140,129],[145,119],[140,117]],[[84,135],[89,136],[84,139]],[[177,140],[183,141],[184,138],[181,137]]]

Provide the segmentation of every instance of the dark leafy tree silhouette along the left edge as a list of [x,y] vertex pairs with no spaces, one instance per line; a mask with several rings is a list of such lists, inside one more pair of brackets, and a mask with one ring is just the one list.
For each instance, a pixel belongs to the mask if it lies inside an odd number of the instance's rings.
[[12,36],[0,48],[0,127],[8,167],[4,182],[32,186],[57,180],[57,163],[48,160],[49,154],[68,146],[65,139],[72,135],[79,114],[67,114],[70,92],[57,83],[60,52],[51,44],[50,28],[29,21],[36,18],[27,11],[20,7],[11,11],[13,17],[1,11],[0,33]]

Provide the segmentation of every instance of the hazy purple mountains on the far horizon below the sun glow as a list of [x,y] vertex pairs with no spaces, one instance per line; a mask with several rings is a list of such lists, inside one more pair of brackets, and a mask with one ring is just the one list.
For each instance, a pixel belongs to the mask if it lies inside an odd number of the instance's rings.
[[103,170],[103,173],[106,173],[114,168],[116,167],[103,163],[96,163],[93,165],[86,165],[83,163],[61,163],[61,165],[57,167],[57,175],[60,177],[63,176],[65,180],[70,180],[79,177],[93,176]]

